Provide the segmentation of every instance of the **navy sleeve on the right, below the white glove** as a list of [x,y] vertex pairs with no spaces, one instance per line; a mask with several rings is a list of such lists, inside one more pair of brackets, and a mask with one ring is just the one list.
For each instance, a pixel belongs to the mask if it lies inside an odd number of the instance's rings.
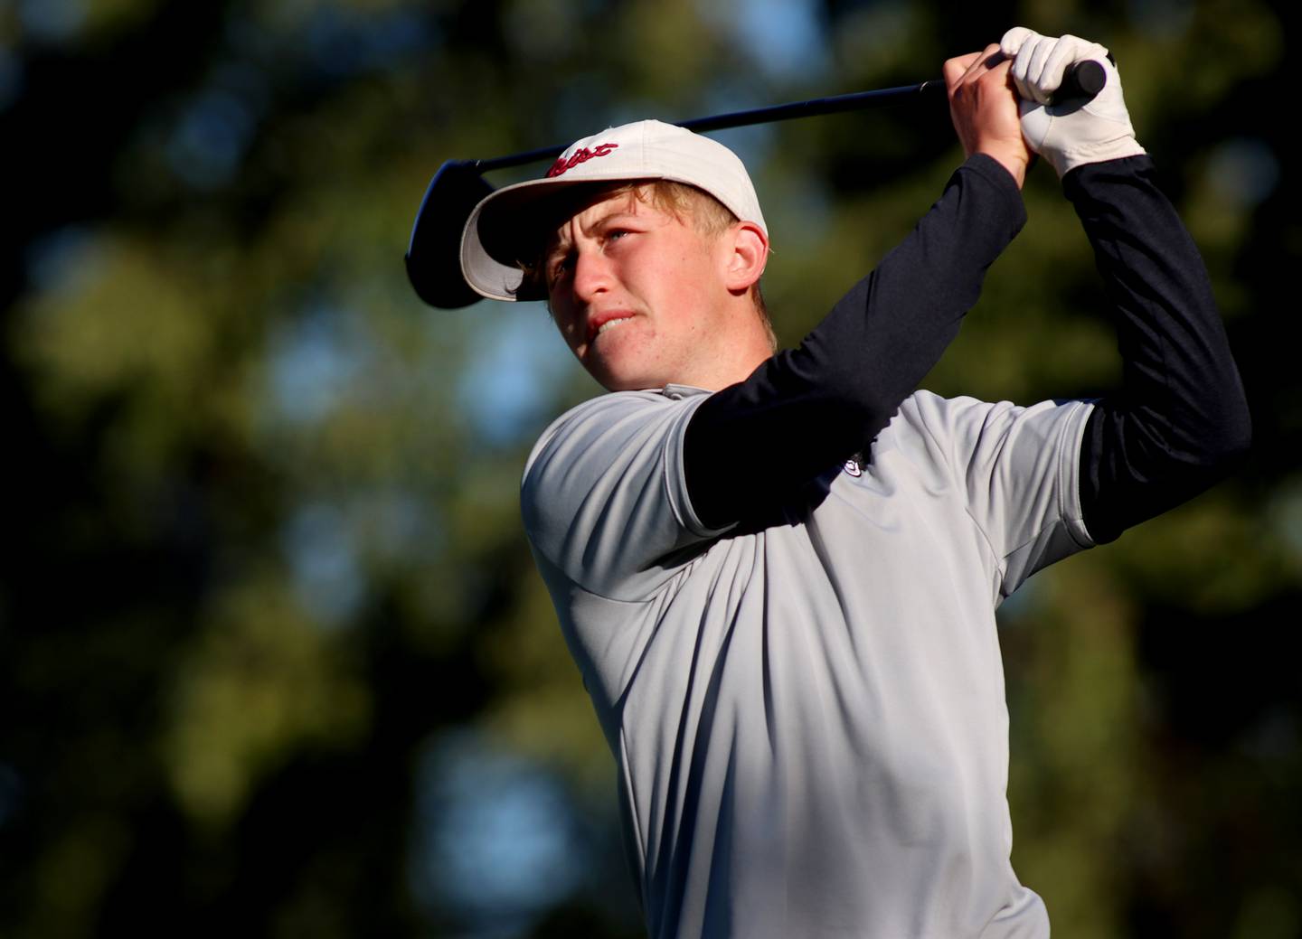
[[1157,189],[1152,160],[1081,166],[1062,181],[1094,246],[1124,362],[1081,451],[1096,542],[1208,488],[1246,453],[1247,401],[1202,258]]

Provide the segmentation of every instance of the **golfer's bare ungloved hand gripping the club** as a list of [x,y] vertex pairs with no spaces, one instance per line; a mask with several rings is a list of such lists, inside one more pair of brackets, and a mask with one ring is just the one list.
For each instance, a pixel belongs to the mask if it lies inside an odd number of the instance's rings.
[[986,153],[1012,173],[1021,189],[1034,152],[1022,139],[1017,90],[1009,70],[1012,60],[991,43],[984,52],[971,52],[945,62],[949,116],[967,156]]

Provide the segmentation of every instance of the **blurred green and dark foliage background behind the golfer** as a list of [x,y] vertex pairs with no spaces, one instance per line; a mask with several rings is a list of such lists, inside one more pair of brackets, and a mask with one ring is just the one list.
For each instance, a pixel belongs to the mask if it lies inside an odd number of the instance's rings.
[[[596,388],[534,306],[419,304],[421,194],[445,159],[921,81],[1017,22],[1116,53],[1256,449],[1001,613],[1014,865],[1065,939],[1302,935],[1295,20],[1282,0],[0,5],[0,935],[637,935],[611,760],[516,506],[536,433]],[[724,139],[767,207],[788,343],[960,160],[943,104]],[[1117,381],[1046,168],[1026,202],[934,390]],[[479,749],[445,745],[466,734]],[[452,823],[456,753],[509,770],[483,776],[487,847]],[[565,793],[543,828],[529,793],[553,789],[530,778]],[[510,906],[513,877],[533,892]]]

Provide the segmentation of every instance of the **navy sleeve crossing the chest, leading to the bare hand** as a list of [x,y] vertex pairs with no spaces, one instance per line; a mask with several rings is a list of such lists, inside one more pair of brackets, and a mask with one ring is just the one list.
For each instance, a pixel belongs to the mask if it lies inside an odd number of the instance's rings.
[[[793,350],[710,397],[684,463],[698,518],[719,528],[866,450],[958,334],[991,263],[1026,221],[1021,191],[976,153],[905,241]],[[737,473],[738,460],[747,472]]]

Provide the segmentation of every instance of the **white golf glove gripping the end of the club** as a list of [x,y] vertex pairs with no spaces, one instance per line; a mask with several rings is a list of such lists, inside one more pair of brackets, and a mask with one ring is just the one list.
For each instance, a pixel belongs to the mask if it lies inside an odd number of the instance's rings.
[[[1121,75],[1098,43],[1077,36],[1042,36],[1014,26],[999,43],[1013,60],[1013,83],[1021,95],[1022,137],[1062,178],[1086,163],[1103,163],[1144,152],[1135,139]],[[1053,92],[1074,62],[1092,59],[1107,73],[1107,85],[1085,107],[1052,104]]]

